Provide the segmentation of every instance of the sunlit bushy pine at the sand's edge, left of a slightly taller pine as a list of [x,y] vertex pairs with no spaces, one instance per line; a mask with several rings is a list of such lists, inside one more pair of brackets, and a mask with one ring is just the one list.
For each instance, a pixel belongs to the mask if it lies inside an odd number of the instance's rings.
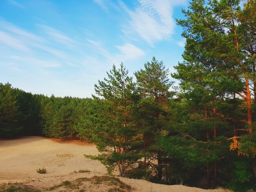
[[130,121],[130,105],[135,83],[122,63],[119,69],[113,65],[107,75],[108,78],[99,80],[99,85],[94,85],[95,92],[101,98],[94,96],[97,100],[93,122],[95,128],[90,129],[92,132],[87,132],[98,150],[104,153],[97,157],[85,157],[100,160],[106,165],[109,173],[117,167],[119,176],[124,176],[129,169],[133,169],[140,158],[132,148],[133,136],[136,134]]

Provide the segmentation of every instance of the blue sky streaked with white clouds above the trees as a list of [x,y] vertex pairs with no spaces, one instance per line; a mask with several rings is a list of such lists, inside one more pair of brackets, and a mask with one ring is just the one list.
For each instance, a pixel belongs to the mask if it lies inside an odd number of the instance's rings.
[[188,0],[1,0],[0,82],[32,94],[86,98],[113,64],[123,62],[134,76],[155,56],[175,72],[185,45],[175,18],[184,18],[181,10],[188,5]]

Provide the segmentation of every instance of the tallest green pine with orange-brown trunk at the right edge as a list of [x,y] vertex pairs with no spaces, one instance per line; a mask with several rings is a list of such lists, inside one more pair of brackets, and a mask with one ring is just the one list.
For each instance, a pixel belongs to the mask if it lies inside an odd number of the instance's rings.
[[[213,112],[215,111],[215,116],[222,116],[225,120],[233,123],[247,123],[246,129],[234,128],[234,133],[236,130],[243,130],[247,131],[249,135],[253,135],[250,86],[253,86],[255,77],[255,73],[253,73],[255,36],[253,36],[253,22],[249,20],[250,25],[248,25],[248,19],[245,16],[252,9],[252,3],[248,1],[248,4],[241,10],[239,0],[213,0],[208,5],[204,0],[193,0],[189,9],[183,10],[186,19],[177,21],[184,29],[182,36],[186,38],[186,50],[183,55],[185,61],[183,64],[179,64],[177,69],[180,70],[179,76],[183,76],[186,82],[190,80],[190,73],[187,70],[182,71],[182,68],[186,67],[190,70],[192,67],[192,70],[195,70],[198,65],[199,71],[210,69],[208,74],[199,78],[194,85],[203,85],[207,90],[212,90],[214,103],[216,103],[215,98],[219,97],[220,99],[220,96],[224,99],[226,106],[227,101],[231,98],[233,98],[233,104],[239,101],[236,96],[245,99],[246,105],[240,105],[240,107],[247,109],[247,120],[228,117],[227,114],[222,114],[224,116],[217,114],[214,105]],[[213,78],[207,80],[208,76]],[[239,107],[237,104],[234,106]],[[237,138],[237,136],[233,138]],[[255,167],[254,164],[253,166]],[[254,172],[256,176],[256,171]]]

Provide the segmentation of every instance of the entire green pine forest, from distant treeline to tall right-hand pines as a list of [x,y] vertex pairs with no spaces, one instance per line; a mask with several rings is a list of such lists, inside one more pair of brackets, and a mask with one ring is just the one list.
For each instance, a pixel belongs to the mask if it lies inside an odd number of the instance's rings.
[[183,13],[186,45],[175,73],[155,57],[134,74],[113,65],[92,98],[1,83],[0,138],[77,137],[103,152],[85,157],[109,174],[256,189],[256,1],[192,0]]

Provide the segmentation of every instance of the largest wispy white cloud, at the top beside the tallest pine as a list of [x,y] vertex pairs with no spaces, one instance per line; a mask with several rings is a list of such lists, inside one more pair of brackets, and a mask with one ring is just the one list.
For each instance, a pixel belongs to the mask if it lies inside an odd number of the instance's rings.
[[139,5],[132,11],[124,2],[119,1],[120,6],[130,16],[123,32],[130,34],[131,31],[128,29],[131,29],[150,46],[158,41],[169,40],[175,28],[175,21],[172,18],[173,7],[184,3],[186,0],[139,0]]

